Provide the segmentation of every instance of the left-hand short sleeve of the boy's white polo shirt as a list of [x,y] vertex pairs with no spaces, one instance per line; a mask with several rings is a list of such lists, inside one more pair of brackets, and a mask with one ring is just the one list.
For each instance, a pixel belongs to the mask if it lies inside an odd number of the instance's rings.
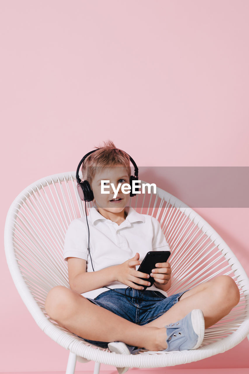
[[70,223],[65,234],[63,257],[67,261],[68,257],[87,260],[87,256],[86,227],[83,221],[76,218]]

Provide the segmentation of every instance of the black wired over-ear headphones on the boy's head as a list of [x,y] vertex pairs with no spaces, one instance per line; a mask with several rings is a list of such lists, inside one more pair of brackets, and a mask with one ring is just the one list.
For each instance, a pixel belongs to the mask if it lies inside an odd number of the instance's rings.
[[[101,149],[101,148],[98,148],[98,149]],[[80,163],[77,167],[77,171],[76,171],[77,190],[78,190],[80,198],[84,201],[92,201],[94,199],[94,196],[93,196],[93,191],[90,187],[89,182],[88,181],[83,181],[82,182],[80,177],[79,177],[80,165],[84,162],[86,157],[89,156],[89,154],[97,151],[98,149],[95,149],[95,150],[90,151],[87,154],[85,154],[85,156],[82,158],[82,160],[80,161]],[[129,154],[128,154],[128,156],[129,156]],[[132,187],[132,181],[137,181],[138,180],[138,167],[136,166],[135,161],[130,156],[129,156],[129,158],[130,158],[130,162],[132,162],[132,164],[135,168],[134,175],[130,176],[130,186]],[[136,194],[132,193],[132,190],[130,190],[130,197],[135,196],[135,195]]]

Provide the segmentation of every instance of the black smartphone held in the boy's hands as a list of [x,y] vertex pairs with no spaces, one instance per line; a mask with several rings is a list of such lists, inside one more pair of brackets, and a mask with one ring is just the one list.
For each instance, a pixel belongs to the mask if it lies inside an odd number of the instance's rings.
[[[167,262],[167,259],[170,256],[170,251],[150,251],[147,252],[147,254],[144,257],[144,260],[142,261],[141,265],[138,268],[139,272],[146,273],[150,275],[152,269],[156,269],[156,264],[159,262]],[[150,286],[145,286],[144,289],[147,287],[151,287],[154,283],[154,278],[150,276],[150,278],[141,278],[144,281],[150,282]],[[133,282],[135,283],[135,282]],[[141,284],[135,283],[138,286],[141,286]]]

